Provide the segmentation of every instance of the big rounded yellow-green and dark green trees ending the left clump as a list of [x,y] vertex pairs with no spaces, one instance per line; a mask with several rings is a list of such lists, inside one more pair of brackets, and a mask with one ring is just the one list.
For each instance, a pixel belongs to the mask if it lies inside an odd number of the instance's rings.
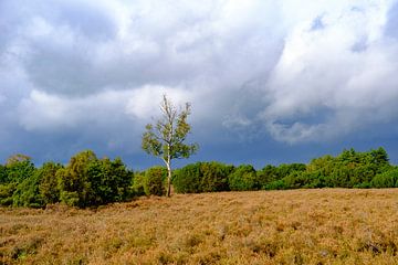
[[129,195],[133,172],[121,159],[97,159],[91,150],[71,158],[56,172],[60,200],[67,205],[90,206],[123,201]]

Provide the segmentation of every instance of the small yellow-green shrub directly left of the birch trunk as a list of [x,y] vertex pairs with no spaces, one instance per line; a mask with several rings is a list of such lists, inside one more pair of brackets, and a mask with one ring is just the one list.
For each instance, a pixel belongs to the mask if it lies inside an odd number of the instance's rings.
[[164,195],[166,192],[165,180],[167,169],[153,167],[146,170],[144,178],[144,191],[147,195]]

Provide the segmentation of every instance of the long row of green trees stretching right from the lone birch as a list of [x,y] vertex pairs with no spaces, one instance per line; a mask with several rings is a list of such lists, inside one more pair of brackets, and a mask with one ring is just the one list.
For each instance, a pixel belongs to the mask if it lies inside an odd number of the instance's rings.
[[198,162],[176,170],[177,192],[286,190],[311,188],[398,188],[398,168],[389,163],[385,149],[357,152],[344,150],[308,165],[268,165],[255,170],[218,162]]

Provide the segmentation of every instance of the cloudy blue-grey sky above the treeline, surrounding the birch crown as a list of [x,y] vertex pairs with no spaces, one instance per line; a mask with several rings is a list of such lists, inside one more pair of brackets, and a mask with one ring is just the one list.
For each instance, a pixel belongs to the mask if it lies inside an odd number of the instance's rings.
[[398,163],[398,1],[0,0],[1,162],[160,165],[140,140],[164,94],[192,106],[177,166]]

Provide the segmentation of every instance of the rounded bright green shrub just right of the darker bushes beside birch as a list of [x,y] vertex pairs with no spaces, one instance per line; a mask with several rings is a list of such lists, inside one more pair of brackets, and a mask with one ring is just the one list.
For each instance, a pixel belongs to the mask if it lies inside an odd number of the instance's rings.
[[229,188],[233,191],[249,191],[259,189],[255,169],[250,165],[241,165],[228,177]]

